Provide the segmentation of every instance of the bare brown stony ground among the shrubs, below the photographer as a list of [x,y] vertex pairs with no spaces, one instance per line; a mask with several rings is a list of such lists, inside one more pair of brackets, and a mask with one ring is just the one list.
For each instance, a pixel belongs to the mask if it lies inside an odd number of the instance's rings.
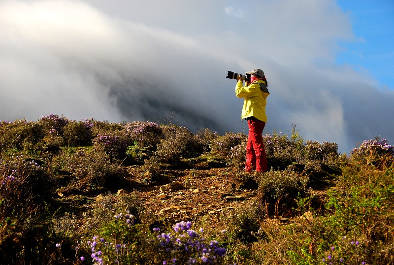
[[[209,168],[203,170],[185,169],[161,172],[144,171],[143,166],[129,166],[128,188],[118,191],[118,196],[130,192],[138,194],[145,209],[159,219],[169,223],[179,221],[197,222],[202,216],[209,219],[214,229],[225,229],[222,215],[234,211],[240,204],[259,195],[257,183],[240,183],[240,172],[233,167]],[[160,181],[151,181],[159,178]],[[314,191],[314,195],[325,197],[325,191]],[[95,197],[96,201],[102,195]],[[280,223],[292,221],[289,216],[266,216],[266,222],[273,219]]]

